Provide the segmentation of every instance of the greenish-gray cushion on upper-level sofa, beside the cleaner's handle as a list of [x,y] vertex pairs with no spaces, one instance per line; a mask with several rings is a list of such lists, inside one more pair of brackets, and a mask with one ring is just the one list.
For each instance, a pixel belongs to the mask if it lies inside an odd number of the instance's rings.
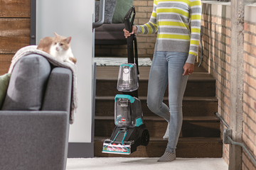
[[124,23],[124,16],[132,7],[134,0],[118,0],[116,8],[114,9],[114,15],[112,17],[112,23]]

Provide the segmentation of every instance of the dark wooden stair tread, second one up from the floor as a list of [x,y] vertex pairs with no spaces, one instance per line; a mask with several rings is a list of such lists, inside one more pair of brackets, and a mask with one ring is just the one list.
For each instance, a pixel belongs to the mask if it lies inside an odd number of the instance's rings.
[[[144,120],[164,120],[159,116],[144,116]],[[114,120],[114,116],[95,116],[95,120]],[[219,121],[219,118],[213,116],[183,116],[183,121]]]

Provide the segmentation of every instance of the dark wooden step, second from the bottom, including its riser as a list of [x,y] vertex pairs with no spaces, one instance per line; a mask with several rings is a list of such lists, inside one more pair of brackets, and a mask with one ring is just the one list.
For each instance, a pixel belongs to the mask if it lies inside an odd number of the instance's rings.
[[[144,123],[150,136],[164,136],[164,118],[144,116]],[[114,116],[95,116],[95,136],[110,137],[114,127]],[[183,117],[180,137],[220,137],[220,120],[216,116]]]

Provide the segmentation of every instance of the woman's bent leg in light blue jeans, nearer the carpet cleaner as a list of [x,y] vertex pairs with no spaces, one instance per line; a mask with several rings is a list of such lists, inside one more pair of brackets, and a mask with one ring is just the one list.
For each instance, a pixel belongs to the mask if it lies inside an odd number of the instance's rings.
[[168,62],[166,60],[166,52],[154,52],[149,73],[147,105],[150,111],[169,121],[169,107],[163,103],[167,84]]

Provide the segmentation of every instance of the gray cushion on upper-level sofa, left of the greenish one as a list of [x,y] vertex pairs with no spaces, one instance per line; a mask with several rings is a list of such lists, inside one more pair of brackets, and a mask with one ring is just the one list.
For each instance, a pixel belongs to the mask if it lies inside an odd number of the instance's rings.
[[[117,0],[105,0],[105,19],[104,23],[112,23],[112,17],[114,15],[114,8],[117,4]],[[95,2],[95,21],[99,21],[100,13],[100,1]]]

